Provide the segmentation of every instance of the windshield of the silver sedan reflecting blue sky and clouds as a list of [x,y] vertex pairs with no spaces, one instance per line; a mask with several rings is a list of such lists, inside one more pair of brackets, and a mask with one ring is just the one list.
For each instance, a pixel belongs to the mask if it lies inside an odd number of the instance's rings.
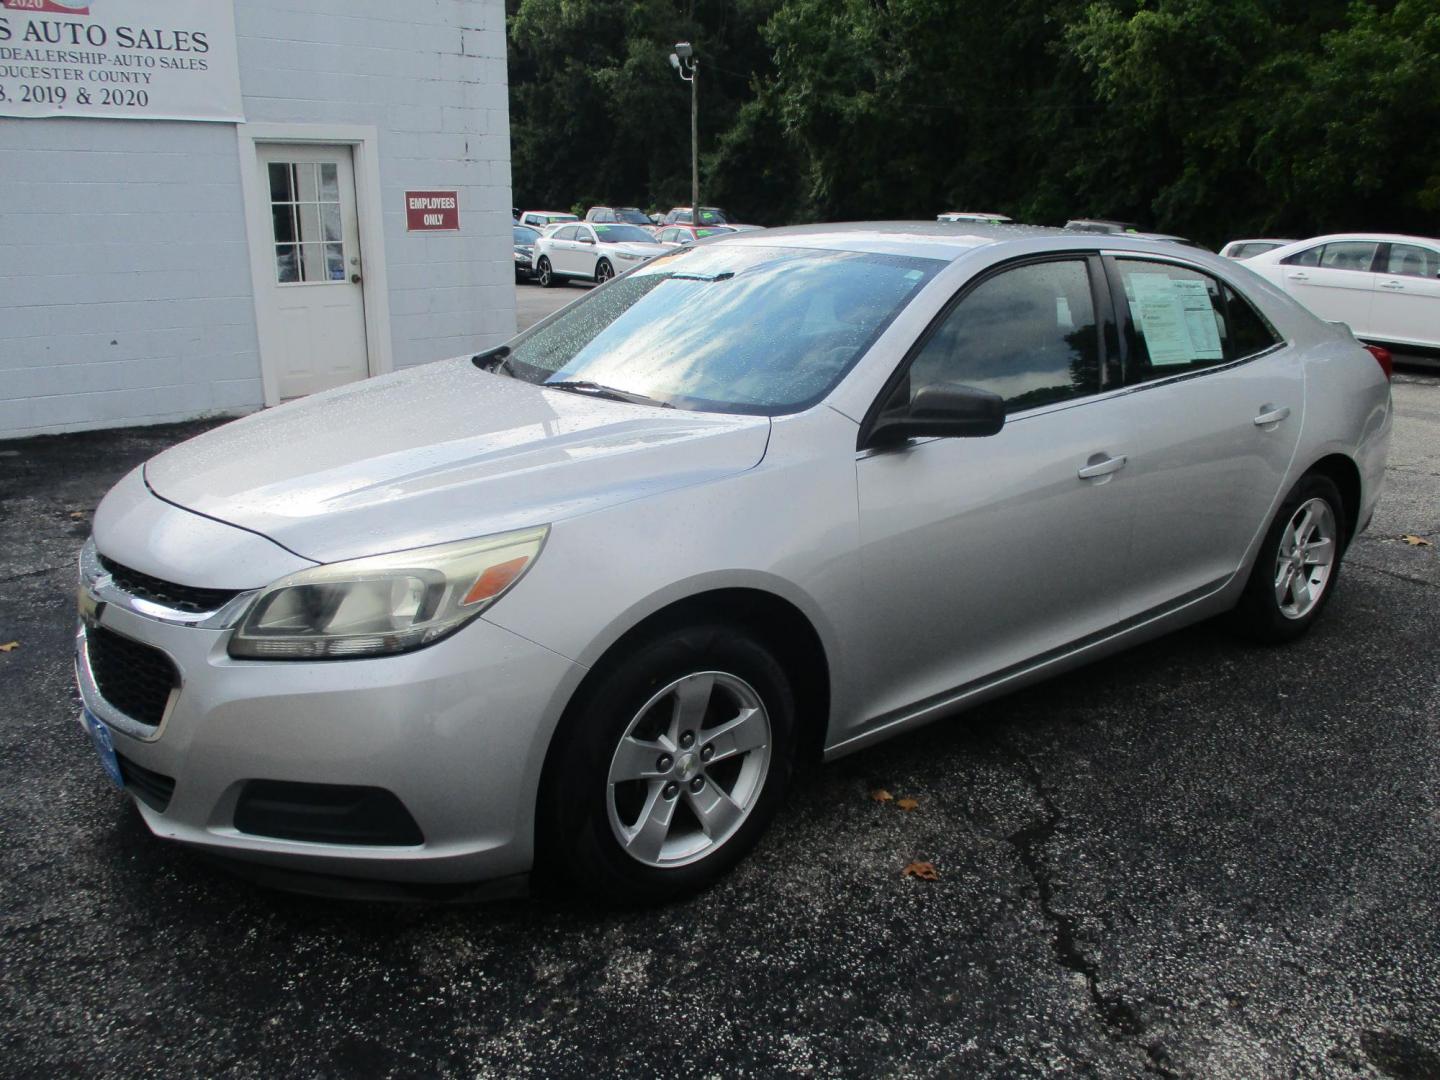
[[505,369],[681,409],[798,412],[835,387],[942,265],[799,248],[681,249],[526,331]]

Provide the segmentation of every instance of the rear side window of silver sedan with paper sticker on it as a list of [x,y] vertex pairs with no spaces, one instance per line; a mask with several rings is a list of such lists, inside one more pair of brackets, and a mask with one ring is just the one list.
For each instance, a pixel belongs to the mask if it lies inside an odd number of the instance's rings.
[[1208,274],[1142,259],[1116,259],[1115,266],[1130,310],[1128,384],[1238,360],[1277,340],[1248,301]]

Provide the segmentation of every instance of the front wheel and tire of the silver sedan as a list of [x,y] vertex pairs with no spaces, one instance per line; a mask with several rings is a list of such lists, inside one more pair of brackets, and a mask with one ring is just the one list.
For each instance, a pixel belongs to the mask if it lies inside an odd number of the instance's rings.
[[755,847],[789,786],[791,681],[721,624],[642,642],[582,693],[540,788],[539,870],[609,903],[710,886]]

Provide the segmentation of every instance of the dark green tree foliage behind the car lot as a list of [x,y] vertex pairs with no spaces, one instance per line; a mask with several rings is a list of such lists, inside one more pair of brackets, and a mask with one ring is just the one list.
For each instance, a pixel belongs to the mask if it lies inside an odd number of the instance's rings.
[[517,204],[1440,232],[1440,0],[508,0]]

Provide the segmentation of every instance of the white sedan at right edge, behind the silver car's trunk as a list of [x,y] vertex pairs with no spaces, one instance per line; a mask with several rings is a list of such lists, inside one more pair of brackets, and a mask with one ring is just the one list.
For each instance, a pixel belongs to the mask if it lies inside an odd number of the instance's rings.
[[1440,348],[1440,240],[1392,233],[1335,233],[1246,259],[1310,311],[1355,337]]

